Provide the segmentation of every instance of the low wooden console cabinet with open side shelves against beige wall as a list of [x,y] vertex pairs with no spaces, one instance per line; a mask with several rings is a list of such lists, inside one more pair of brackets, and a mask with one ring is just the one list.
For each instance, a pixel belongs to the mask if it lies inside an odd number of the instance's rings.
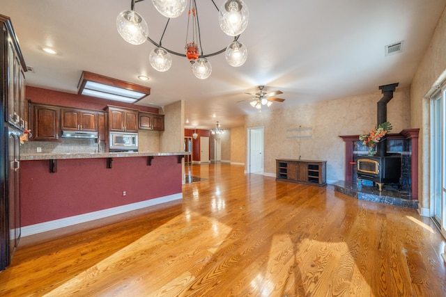
[[276,180],[325,186],[327,161],[276,159]]

